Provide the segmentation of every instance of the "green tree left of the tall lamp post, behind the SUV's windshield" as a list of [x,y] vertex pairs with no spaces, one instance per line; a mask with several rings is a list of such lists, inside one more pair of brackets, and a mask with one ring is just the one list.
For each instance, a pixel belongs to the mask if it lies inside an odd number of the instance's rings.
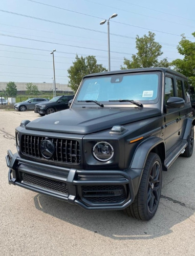
[[76,55],[73,66],[68,69],[69,84],[68,86],[76,92],[83,76],[107,71],[102,64],[97,64],[95,56],[78,57]]

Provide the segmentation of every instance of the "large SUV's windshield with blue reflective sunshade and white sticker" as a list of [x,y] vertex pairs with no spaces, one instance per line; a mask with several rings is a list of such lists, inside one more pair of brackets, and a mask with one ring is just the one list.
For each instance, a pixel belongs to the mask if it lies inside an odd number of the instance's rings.
[[158,101],[158,91],[158,73],[99,76],[83,80],[77,101],[107,101],[112,104],[117,100],[134,100],[153,104]]

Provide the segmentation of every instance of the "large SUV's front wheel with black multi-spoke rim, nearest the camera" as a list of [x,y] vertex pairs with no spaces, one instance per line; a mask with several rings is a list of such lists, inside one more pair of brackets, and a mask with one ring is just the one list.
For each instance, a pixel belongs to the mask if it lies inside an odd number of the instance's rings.
[[138,194],[134,202],[124,209],[128,216],[148,221],[156,214],[162,188],[162,163],[160,157],[150,153],[145,163]]

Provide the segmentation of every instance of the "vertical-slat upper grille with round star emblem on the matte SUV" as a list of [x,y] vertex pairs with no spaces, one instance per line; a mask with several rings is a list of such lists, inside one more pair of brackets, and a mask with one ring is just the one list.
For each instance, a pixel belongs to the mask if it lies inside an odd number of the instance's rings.
[[[44,159],[40,151],[40,144],[45,137],[23,135],[21,136],[21,152],[25,155]],[[63,163],[80,163],[80,145],[76,140],[48,138],[55,148],[53,156],[50,161],[57,161]]]

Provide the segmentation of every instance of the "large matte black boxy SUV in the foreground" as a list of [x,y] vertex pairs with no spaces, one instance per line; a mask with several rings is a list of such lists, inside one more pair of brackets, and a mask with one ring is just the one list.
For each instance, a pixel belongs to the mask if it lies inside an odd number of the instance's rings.
[[16,128],[9,183],[89,210],[151,219],[162,170],[193,152],[187,78],[166,68],[87,75],[70,109]]

